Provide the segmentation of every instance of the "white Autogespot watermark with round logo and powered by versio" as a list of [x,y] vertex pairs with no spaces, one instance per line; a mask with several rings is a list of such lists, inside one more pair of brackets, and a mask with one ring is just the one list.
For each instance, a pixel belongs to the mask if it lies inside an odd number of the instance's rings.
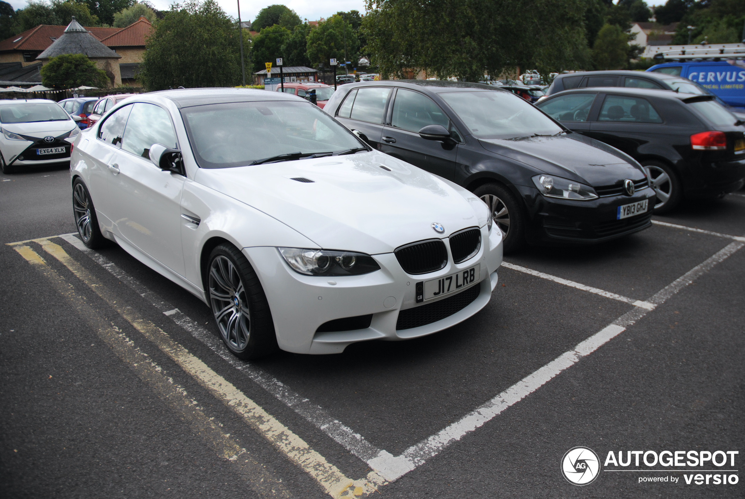
[[593,483],[601,471],[630,472],[636,475],[637,483],[736,485],[740,478],[735,457],[739,454],[740,451],[608,451],[600,466],[595,451],[574,447],[562,457],[561,468],[565,479],[578,486]]

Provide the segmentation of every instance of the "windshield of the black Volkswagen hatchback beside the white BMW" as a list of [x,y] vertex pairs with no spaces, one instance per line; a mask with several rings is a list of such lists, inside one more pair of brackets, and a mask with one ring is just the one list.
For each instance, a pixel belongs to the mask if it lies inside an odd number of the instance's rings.
[[440,94],[478,139],[516,139],[556,135],[563,129],[511,92],[443,92]]

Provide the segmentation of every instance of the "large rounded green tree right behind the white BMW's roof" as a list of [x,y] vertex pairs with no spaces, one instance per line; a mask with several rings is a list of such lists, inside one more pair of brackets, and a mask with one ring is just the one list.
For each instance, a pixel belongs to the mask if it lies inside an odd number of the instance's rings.
[[149,90],[235,86],[240,31],[215,0],[172,4],[148,39],[139,77]]

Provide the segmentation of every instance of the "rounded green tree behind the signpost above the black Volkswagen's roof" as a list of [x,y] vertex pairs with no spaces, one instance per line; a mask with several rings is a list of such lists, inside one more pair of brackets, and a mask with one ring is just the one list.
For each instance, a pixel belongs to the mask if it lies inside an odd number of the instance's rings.
[[346,60],[356,66],[359,42],[352,24],[335,14],[326,22],[321,22],[318,28],[308,34],[308,59],[312,63],[329,64],[329,59],[344,60],[344,39],[346,34]]

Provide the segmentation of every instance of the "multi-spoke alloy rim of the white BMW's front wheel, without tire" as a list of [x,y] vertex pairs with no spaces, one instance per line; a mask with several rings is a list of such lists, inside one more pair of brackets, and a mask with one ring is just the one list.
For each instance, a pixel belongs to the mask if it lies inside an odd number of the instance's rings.
[[244,350],[251,331],[246,288],[235,265],[223,255],[209,266],[209,300],[225,343],[238,352]]

